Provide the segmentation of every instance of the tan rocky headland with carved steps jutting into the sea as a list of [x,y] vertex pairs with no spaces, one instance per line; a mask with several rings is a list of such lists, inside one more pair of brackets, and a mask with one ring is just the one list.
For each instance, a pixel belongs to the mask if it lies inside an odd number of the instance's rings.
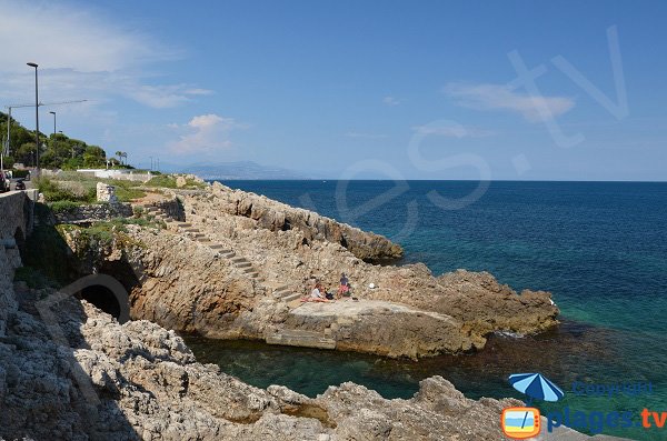
[[[410,358],[479,349],[492,332],[529,334],[557,323],[547,292],[519,294],[488,273],[436,278],[424,264],[367,263],[337,241],[263,223],[282,219],[276,211],[238,214],[241,193],[222,186],[181,193],[187,224],[132,230],[145,244],[126,253],[145,278],[131,293],[135,318],[213,338]],[[359,302],[299,302],[315,280],[335,290],[342,272]]]

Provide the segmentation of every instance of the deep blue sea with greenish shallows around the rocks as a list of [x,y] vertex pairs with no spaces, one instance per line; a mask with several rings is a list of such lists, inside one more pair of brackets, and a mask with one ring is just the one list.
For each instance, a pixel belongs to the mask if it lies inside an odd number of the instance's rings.
[[[384,234],[405,249],[395,264],[424,262],[436,275],[488,271],[517,291],[549,291],[561,324],[419,361],[187,337],[200,361],[309,397],[352,381],[388,399],[410,398],[419,381],[441,375],[471,399],[526,400],[508,377],[536,372],[565,391],[556,403],[531,402],[542,414],[579,415],[569,423],[586,433],[667,440],[667,424],[664,433],[650,418],[653,427],[641,427],[644,409],[667,411],[667,183],[222,183]],[[603,421],[614,412],[630,412],[631,427]]]

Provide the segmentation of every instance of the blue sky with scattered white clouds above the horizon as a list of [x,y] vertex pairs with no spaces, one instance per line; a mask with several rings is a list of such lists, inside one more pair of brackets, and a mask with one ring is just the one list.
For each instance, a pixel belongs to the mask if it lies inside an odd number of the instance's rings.
[[[0,0],[0,103],[130,163],[667,180],[667,2]],[[6,109],[3,109],[6,111]],[[33,109],[14,109],[34,127]]]

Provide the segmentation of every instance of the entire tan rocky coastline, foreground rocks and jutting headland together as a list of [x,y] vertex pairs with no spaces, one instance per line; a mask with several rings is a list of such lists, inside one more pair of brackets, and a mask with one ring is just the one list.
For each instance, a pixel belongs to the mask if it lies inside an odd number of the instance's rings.
[[[161,223],[168,220],[162,209],[148,209],[136,210],[136,216],[148,218],[149,223],[112,225],[103,230],[104,240],[91,239],[81,225],[59,230],[68,245],[62,259],[76,262],[69,267],[72,273],[113,274],[128,289],[135,320],[122,324],[77,299],[67,287],[29,288],[14,281],[21,257],[30,253],[23,234],[32,228],[26,209],[32,206],[16,193],[11,200],[0,197],[0,204],[8,204],[6,212],[14,213],[2,219],[0,229],[0,439],[504,439],[499,414],[504,408],[519,405],[517,400],[470,400],[440,377],[424,380],[409,400],[387,400],[354,383],[332,385],[316,398],[278,385],[262,390],[217,365],[197,362],[173,330],[209,330],[210,335],[226,338],[275,337],[276,329],[329,330],[337,349],[421,357],[480,347],[485,332],[491,330],[538,332],[554,325],[557,309],[547,293],[519,295],[484,273],[457,271],[434,278],[424,265],[374,265],[354,251],[375,259],[396,254],[398,249],[384,238],[350,234],[347,227],[331,228],[334,221],[316,217],[300,228],[277,228],[280,223],[268,222],[273,216],[266,214],[270,210],[261,211],[257,202],[255,212],[265,213],[258,219],[247,217],[247,211],[211,214],[201,210],[202,199],[211,198],[211,191],[230,191],[225,188],[190,194],[162,191],[167,201],[161,207],[170,208],[168,218],[191,223],[183,227],[172,219]],[[170,199],[176,196],[178,200]],[[215,194],[212,199],[216,202]],[[265,219],[261,227],[257,227],[259,219]],[[286,219],[299,224],[291,212]],[[39,228],[53,228],[52,221],[41,219]],[[193,225],[199,227],[197,232]],[[318,233],[317,225],[328,227]],[[202,230],[206,235],[199,235]],[[21,235],[19,241],[16,234]],[[355,234],[360,245],[350,245]],[[341,238],[350,248],[340,243]],[[256,254],[248,253],[239,265],[221,255],[211,239],[232,240],[239,254],[250,248]],[[289,262],[282,270],[276,265],[280,259]],[[278,295],[285,288],[275,288],[286,279],[327,281],[344,264],[358,280],[359,302],[297,305]],[[255,271],[257,267],[261,272]],[[362,290],[361,283],[368,280],[375,280],[378,288]],[[408,289],[439,298],[409,299]],[[457,295],[488,304],[484,313],[474,313],[472,304]],[[502,308],[525,312],[525,320],[516,321],[516,314],[504,313],[495,304],[502,302],[507,302]],[[338,312],[327,310],[335,305]],[[495,313],[498,318],[491,321]],[[376,327],[397,331],[380,337]],[[354,337],[358,334],[366,338]],[[408,344],[418,349],[408,351]],[[589,438],[568,429],[554,437]]]

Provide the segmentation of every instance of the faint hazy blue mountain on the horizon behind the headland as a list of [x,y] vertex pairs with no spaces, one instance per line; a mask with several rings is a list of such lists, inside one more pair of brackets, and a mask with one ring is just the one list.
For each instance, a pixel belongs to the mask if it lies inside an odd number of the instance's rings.
[[190,166],[163,164],[160,169],[167,172],[192,173],[208,180],[310,179],[310,177],[297,171],[279,167],[260,166],[252,161]]

